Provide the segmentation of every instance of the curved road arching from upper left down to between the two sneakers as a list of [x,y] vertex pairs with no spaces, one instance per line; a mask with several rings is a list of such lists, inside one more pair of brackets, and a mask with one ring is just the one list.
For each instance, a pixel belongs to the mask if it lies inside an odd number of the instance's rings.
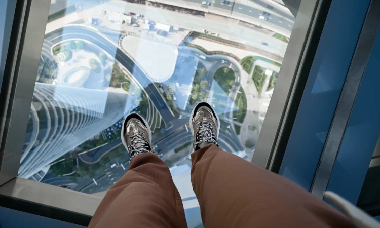
[[[111,56],[115,56],[115,59],[124,65],[127,70],[133,74],[141,86],[145,88],[145,91],[148,93],[150,99],[153,101],[157,110],[160,112],[163,120],[168,123],[174,119],[173,115],[168,110],[168,107],[162,107],[162,104],[165,104],[165,101],[162,99],[156,87],[146,77],[142,70],[121,49],[117,48],[111,42],[107,41],[104,37],[100,36],[96,32],[87,29],[65,27],[60,32],[55,32],[54,34],[47,36],[47,38],[50,41],[54,41],[55,43],[67,39],[84,39],[96,44]],[[56,41],[56,39],[59,40]],[[167,105],[165,104],[165,106]]]

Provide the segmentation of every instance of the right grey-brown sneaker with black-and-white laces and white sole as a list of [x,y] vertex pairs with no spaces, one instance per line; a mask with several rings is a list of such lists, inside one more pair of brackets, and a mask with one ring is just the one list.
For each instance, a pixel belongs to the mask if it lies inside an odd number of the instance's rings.
[[194,151],[199,149],[199,144],[202,142],[211,142],[219,146],[219,117],[208,103],[200,102],[194,107],[190,116],[190,129],[194,136]]

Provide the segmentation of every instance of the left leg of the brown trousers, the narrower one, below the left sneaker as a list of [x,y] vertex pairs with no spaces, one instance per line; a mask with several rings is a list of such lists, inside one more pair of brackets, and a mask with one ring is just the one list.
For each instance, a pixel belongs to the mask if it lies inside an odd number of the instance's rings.
[[165,162],[153,153],[133,158],[89,227],[187,227],[181,197]]

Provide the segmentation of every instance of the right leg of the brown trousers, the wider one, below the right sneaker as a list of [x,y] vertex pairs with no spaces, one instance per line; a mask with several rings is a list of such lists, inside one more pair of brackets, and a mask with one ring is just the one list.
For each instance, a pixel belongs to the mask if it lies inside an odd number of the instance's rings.
[[191,178],[207,227],[353,227],[286,178],[218,147],[192,154]]

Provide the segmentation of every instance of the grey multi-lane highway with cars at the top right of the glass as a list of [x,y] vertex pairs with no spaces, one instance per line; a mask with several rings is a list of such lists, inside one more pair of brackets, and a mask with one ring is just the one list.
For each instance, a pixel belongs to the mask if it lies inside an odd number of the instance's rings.
[[[191,2],[191,3],[198,3],[203,7],[207,7],[207,6],[202,4],[202,2],[203,2],[202,0],[185,0],[185,1]],[[224,3],[222,3],[221,0],[211,0],[211,1],[209,0],[209,2],[211,3],[210,7],[229,10],[232,12],[232,14],[241,13],[241,14],[244,14],[244,15],[247,15],[250,17],[259,18],[259,16],[263,15],[263,13],[264,13],[262,10],[247,6],[245,4],[236,3],[233,0],[230,1],[230,4],[224,4]],[[255,2],[255,3],[259,4],[260,6],[267,8],[267,4],[264,2],[261,2],[261,1],[252,1],[252,2]],[[292,30],[293,25],[294,25],[294,17],[293,16],[286,14],[286,13],[284,13],[281,10],[276,9],[276,8],[273,8],[273,9],[267,8],[267,9],[274,11],[274,12],[276,12],[282,16],[282,17],[279,17],[276,15],[269,15],[269,16],[263,15],[263,16],[267,17],[269,23],[277,25],[277,26],[282,27],[282,28],[289,30],[289,31]],[[292,20],[292,21],[285,20],[283,17],[285,17],[289,20]]]

